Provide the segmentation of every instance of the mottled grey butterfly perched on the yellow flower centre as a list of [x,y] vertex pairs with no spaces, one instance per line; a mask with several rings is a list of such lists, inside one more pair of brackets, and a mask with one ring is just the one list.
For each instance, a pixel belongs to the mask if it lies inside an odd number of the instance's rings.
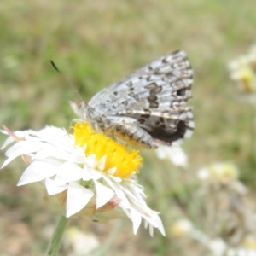
[[138,148],[158,148],[192,134],[193,71],[183,50],[161,56],[73,109],[95,130]]

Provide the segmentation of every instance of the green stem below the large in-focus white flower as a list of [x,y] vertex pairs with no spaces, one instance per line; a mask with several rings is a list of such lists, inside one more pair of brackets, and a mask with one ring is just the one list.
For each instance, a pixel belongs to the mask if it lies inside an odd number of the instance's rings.
[[64,235],[68,221],[69,218],[66,218],[65,216],[61,215],[61,218],[59,219],[58,224],[55,227],[55,232],[51,238],[51,241],[49,241],[49,246],[47,248],[47,252],[45,253],[45,255],[58,255],[61,246],[62,236]]

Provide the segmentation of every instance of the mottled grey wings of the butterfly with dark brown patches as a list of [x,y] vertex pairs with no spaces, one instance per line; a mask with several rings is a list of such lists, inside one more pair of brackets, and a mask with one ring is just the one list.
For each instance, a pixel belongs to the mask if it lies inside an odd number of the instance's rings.
[[107,116],[129,117],[158,143],[172,144],[195,127],[191,108],[193,71],[182,50],[161,56],[100,91],[89,106]]

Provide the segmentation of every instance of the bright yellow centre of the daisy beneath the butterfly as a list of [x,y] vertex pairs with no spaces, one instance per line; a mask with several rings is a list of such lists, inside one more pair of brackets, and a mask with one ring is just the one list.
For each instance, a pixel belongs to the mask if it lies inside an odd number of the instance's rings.
[[122,146],[115,142],[110,137],[93,131],[87,122],[76,123],[73,127],[73,136],[75,144],[84,147],[86,156],[90,154],[96,155],[96,160],[101,160],[107,155],[107,160],[103,172],[116,167],[114,176],[130,177],[134,172],[138,172],[137,168],[142,163],[142,157],[138,150],[128,149],[127,146]]

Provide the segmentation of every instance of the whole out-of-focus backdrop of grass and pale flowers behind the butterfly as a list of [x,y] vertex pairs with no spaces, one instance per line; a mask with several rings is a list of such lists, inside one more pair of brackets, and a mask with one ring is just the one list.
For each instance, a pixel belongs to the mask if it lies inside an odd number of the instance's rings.
[[[254,0],[1,1],[0,125],[12,131],[68,128],[75,118],[68,102],[79,97],[50,60],[86,101],[173,50],[187,52],[195,73],[189,106],[196,128],[182,144],[187,162],[143,151],[138,177],[148,206],[161,212],[166,237],[155,230],[151,238],[143,225],[134,236],[128,219],[120,228],[118,220],[103,225],[79,218],[71,221],[60,255],[256,252],[256,112],[244,96],[252,99],[255,91],[241,92],[244,73],[230,74],[245,62],[236,62],[240,55],[253,52],[255,10]],[[16,187],[25,167],[19,159],[0,172],[1,255],[41,255],[59,217],[32,185]],[[82,253],[77,241],[86,247]]]

